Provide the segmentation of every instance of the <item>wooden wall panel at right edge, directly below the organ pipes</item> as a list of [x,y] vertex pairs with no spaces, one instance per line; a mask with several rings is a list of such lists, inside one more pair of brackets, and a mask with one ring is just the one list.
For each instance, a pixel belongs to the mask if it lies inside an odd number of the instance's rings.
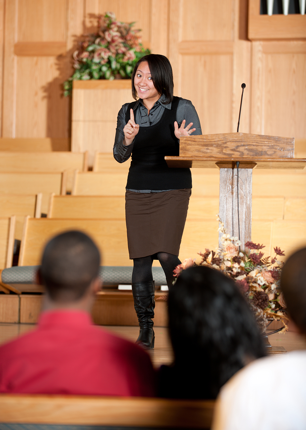
[[306,42],[252,43],[251,133],[305,138]]

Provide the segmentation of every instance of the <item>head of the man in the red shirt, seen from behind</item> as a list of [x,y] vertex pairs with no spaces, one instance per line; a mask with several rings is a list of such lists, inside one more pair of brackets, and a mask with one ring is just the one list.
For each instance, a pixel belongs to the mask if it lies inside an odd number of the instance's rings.
[[40,276],[54,301],[83,297],[98,276],[100,252],[85,233],[67,231],[51,239],[43,252]]

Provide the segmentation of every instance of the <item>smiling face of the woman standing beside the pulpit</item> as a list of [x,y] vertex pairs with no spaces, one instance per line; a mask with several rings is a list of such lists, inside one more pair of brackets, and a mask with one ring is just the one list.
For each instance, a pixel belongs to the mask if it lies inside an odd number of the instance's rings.
[[147,61],[142,61],[139,64],[134,78],[134,86],[138,97],[143,100],[144,106],[149,109],[160,97],[160,94],[157,92],[153,84],[153,79]]

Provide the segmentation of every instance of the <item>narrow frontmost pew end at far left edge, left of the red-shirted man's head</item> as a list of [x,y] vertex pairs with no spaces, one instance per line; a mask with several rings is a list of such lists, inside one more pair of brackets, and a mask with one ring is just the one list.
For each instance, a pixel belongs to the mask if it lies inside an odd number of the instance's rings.
[[[0,269],[12,267],[15,222],[15,216],[0,218]],[[2,287],[0,289],[4,291]]]

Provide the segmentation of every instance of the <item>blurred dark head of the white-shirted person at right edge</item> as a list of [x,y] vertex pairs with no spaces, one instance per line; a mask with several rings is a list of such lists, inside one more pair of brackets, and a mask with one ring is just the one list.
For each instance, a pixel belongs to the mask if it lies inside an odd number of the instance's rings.
[[306,334],[306,248],[294,252],[285,262],[281,289],[291,318]]

